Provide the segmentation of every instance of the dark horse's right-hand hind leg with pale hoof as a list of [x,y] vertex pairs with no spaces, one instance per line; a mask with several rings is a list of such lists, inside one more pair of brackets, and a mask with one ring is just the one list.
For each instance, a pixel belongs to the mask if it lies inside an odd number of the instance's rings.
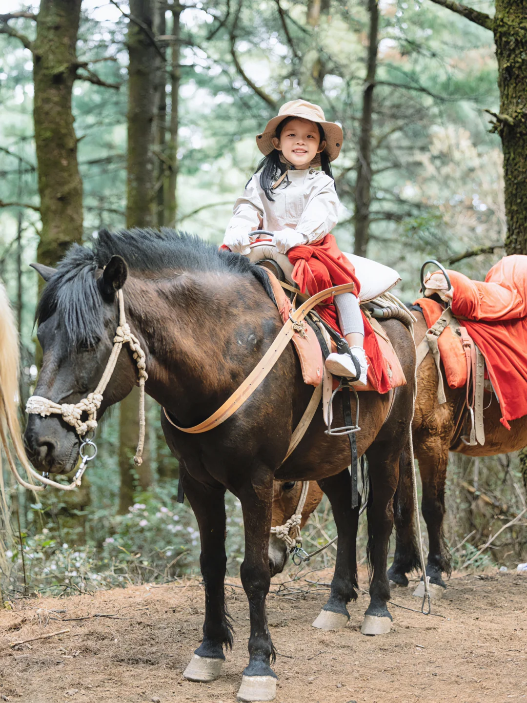
[[370,471],[370,499],[367,510],[367,556],[372,567],[370,605],[367,607],[361,632],[363,635],[382,635],[391,629],[391,614],[386,603],[390,585],[386,574],[388,541],[393,528],[393,504],[398,475],[399,457],[389,454],[384,443],[367,451]]

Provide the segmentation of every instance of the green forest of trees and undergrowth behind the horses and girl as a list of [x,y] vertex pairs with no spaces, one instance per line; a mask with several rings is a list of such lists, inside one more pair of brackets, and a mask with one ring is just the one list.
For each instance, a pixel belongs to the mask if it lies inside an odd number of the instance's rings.
[[[20,328],[20,407],[39,365],[39,281],[29,264],[53,266],[104,227],[171,226],[221,243],[259,161],[255,134],[294,98],[342,124],[334,234],[343,250],[397,269],[400,297],[418,297],[427,258],[482,279],[506,251],[527,254],[527,199],[515,205],[525,187],[515,174],[525,167],[514,156],[527,130],[504,110],[505,5],[3,0],[0,278]],[[521,55],[524,4],[508,5],[519,10],[509,18]],[[175,502],[178,466],[159,411],[150,401],[139,470],[132,393],[100,424],[98,459],[81,490],[34,502],[4,476],[16,536],[6,545],[4,591],[60,593],[197,569],[199,534],[188,505]],[[451,458],[446,536],[455,564],[521,510],[521,466],[513,455]],[[333,535],[323,501],[306,544]],[[525,561],[526,536],[516,524],[472,566]],[[242,542],[240,505],[229,496],[231,574]],[[361,523],[360,558],[364,544]],[[333,559],[332,550],[320,557]]]

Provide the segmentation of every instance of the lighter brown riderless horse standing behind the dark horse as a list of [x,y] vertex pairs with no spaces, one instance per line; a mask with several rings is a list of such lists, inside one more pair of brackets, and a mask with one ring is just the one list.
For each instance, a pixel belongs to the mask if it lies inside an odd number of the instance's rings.
[[[417,317],[415,324],[415,342],[419,344],[427,331],[427,323],[419,311],[413,311]],[[443,385],[446,403],[437,400],[438,375],[434,359],[428,354],[417,370],[417,398],[415,415],[412,423],[412,437],[415,457],[419,461],[422,480],[422,514],[427,524],[429,536],[429,554],[427,575],[430,576],[431,595],[441,598],[445,591],[443,572],[450,574],[450,551],[443,536],[445,517],[445,480],[448,464],[448,452],[455,451],[466,456],[493,456],[495,454],[517,451],[527,445],[527,417],[512,420],[511,429],[506,430],[500,423],[500,405],[494,394],[485,392],[484,427],[485,444],[467,446],[461,439],[463,434],[463,411],[465,405],[464,389],[451,389],[446,382],[444,370]],[[396,527],[396,550],[393,564],[389,569],[391,583],[408,586],[407,574],[419,568],[419,553],[415,536],[415,522],[412,499],[411,466],[409,453],[401,455],[399,484],[394,496],[394,513]],[[299,486],[289,486],[285,491],[279,486],[275,493],[280,495],[280,519],[287,520],[297,505]],[[322,499],[322,492],[317,484],[309,486],[306,510],[302,515],[305,523],[309,509],[315,510]],[[349,499],[349,497],[346,497]],[[278,509],[277,509],[278,512]],[[285,543],[274,539],[271,542],[274,573],[281,572],[287,560]],[[337,555],[338,560],[338,555]],[[337,567],[336,567],[337,568]],[[435,586],[435,588],[434,588]]]

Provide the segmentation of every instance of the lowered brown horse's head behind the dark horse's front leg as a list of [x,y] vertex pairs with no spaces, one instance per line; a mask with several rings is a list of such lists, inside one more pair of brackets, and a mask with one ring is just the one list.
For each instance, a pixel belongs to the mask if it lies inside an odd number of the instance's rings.
[[[273,527],[284,525],[294,515],[299,503],[301,490],[301,481],[275,481],[273,520],[271,522]],[[322,496],[323,492],[318,487],[318,483],[316,481],[309,482],[306,503],[304,503],[304,508],[302,509],[300,529],[304,527],[308,517],[322,500]],[[269,539],[269,569],[271,569],[271,576],[282,573],[288,555],[289,548],[285,541],[278,538],[275,534],[271,534]]]

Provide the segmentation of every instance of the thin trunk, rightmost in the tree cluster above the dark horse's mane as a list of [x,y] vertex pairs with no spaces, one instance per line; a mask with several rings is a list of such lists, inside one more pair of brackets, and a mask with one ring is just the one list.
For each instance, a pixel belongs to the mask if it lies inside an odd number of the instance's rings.
[[181,34],[179,18],[181,5],[176,5],[172,10],[172,48],[171,48],[171,93],[170,93],[170,141],[168,149],[169,178],[167,184],[167,212],[165,222],[169,227],[176,226],[178,213],[177,180],[178,180],[178,102],[179,82],[181,71],[179,69]]

